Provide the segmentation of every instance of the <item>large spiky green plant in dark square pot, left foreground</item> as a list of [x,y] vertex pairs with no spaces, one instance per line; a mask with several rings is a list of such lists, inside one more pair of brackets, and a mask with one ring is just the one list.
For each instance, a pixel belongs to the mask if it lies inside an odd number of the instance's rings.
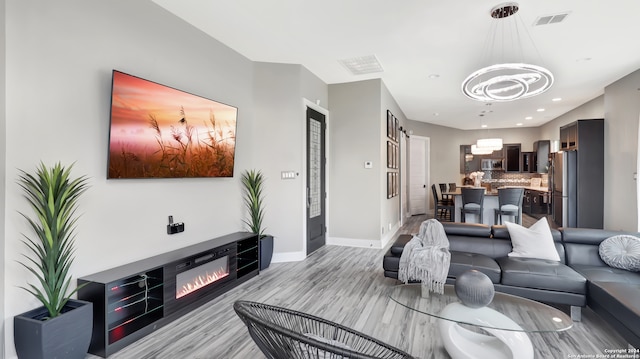
[[20,171],[18,184],[35,216],[20,214],[35,236],[23,235],[29,255],[19,261],[36,278],[24,290],[42,306],[14,317],[19,358],[85,358],[91,341],[93,305],[71,299],[69,269],[74,260],[78,199],[88,188],[85,176],[71,178],[73,165],[43,163],[35,174]]

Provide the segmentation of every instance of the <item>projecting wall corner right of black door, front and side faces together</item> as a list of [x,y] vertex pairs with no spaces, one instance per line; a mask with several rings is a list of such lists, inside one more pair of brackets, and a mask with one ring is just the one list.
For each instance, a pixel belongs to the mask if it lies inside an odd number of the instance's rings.
[[387,198],[387,110],[399,126],[406,117],[380,79],[329,85],[329,103],[331,243],[381,248],[400,226],[400,196]]

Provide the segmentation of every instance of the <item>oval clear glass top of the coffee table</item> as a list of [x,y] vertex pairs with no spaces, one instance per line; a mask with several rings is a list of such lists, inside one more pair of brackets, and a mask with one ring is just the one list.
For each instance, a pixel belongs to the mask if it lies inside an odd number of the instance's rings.
[[[520,332],[559,332],[571,328],[571,318],[549,305],[514,295],[496,292],[486,307],[469,308],[456,296],[453,285],[445,285],[443,294],[422,296],[420,284],[398,285],[390,298],[403,307],[439,319],[480,328]],[[457,303],[445,307],[451,303]],[[497,312],[497,313],[496,313]],[[510,319],[510,320],[509,320]]]

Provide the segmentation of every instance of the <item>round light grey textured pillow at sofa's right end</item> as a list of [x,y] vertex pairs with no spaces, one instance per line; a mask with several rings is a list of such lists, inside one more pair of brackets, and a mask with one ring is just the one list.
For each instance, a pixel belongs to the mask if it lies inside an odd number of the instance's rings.
[[625,234],[609,237],[598,246],[600,258],[609,266],[640,271],[640,238]]

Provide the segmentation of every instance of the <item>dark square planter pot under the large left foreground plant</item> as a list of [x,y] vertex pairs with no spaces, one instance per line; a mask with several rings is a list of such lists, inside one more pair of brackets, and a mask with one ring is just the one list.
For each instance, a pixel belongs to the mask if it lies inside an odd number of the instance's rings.
[[13,318],[16,353],[21,359],[84,359],[91,342],[93,303],[71,299],[64,313],[48,315],[39,307]]

